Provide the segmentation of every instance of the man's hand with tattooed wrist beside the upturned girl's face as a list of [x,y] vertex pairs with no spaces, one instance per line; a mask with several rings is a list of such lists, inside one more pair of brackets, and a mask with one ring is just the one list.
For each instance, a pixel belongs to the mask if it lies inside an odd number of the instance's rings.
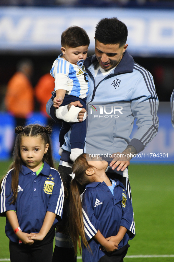
[[122,152],[117,152],[115,154],[112,154],[112,157],[114,159],[110,163],[110,167],[114,170],[117,167],[117,171],[124,171],[126,167],[130,165],[130,160],[133,157],[134,154],[136,154],[137,151],[132,146],[127,146],[127,148]]

